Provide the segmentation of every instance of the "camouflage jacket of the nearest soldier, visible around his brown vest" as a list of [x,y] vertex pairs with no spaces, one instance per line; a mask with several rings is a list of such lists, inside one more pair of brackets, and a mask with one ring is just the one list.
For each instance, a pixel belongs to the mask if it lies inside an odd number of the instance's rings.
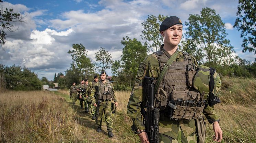
[[[171,57],[169,53],[167,53],[163,48],[163,45],[161,46],[161,51],[166,54],[168,58]],[[195,65],[197,64],[197,61],[194,57],[192,57],[192,61]],[[178,52],[178,55],[174,61],[184,61],[184,56],[181,51]],[[139,70],[131,91],[130,99],[127,105],[127,114],[129,117],[131,117],[133,121],[133,125],[131,126],[131,129],[133,131],[137,131],[138,129],[143,130],[145,129],[143,123],[142,123],[142,115],[141,115],[141,105],[145,107],[146,105],[146,96],[145,94],[142,94],[142,82],[144,79],[144,76],[149,77],[158,77],[160,74],[160,67],[158,59],[154,54],[150,54],[146,56],[146,58],[141,62],[139,66]],[[154,80],[154,83],[156,82],[156,79]],[[205,114],[206,118],[208,119],[209,123],[213,123],[213,121],[216,121],[219,119],[219,117],[216,115],[214,108],[210,107],[209,105],[203,110],[203,114]],[[187,120],[160,120],[160,124],[170,127],[168,129],[168,132],[165,133],[166,135],[176,138],[178,136],[179,127],[183,130],[183,133],[185,137],[193,133],[196,129],[195,126],[195,120],[192,119],[190,121]],[[164,129],[160,126],[160,133],[163,133],[167,131],[163,131]],[[162,131],[161,131],[162,130]],[[164,133],[163,133],[164,134]]]

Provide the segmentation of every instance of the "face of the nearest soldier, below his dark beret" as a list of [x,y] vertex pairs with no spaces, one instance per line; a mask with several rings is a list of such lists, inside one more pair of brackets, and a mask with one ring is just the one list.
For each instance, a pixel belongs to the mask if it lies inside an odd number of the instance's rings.
[[164,43],[170,46],[177,46],[182,38],[182,25],[174,25],[164,31],[161,31],[164,37]]

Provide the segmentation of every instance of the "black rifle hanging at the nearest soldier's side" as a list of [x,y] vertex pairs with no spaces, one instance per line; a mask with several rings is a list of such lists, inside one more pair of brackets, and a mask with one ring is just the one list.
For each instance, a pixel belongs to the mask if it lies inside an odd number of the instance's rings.
[[[144,108],[141,108],[143,118],[143,124],[145,125],[146,132],[149,137],[150,143],[159,143],[159,116],[160,109],[154,109],[154,84],[153,77],[144,77],[144,93],[147,95],[147,112]],[[145,115],[146,112],[146,115]],[[143,115],[144,114],[144,115]]]

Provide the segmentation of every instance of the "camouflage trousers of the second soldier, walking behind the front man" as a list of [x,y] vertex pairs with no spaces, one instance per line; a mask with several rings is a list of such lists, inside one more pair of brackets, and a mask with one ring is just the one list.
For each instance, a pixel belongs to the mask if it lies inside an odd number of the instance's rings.
[[98,128],[101,128],[102,123],[102,116],[103,112],[105,114],[105,120],[107,124],[107,131],[112,131],[113,129],[113,120],[111,117],[111,101],[102,101],[100,105],[98,105],[98,114],[96,115],[96,124]]

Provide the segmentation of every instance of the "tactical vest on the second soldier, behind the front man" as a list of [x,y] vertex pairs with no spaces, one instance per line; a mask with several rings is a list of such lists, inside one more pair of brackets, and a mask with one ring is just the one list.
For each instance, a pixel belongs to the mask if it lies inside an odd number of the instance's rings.
[[112,100],[112,86],[111,83],[106,80],[106,83],[103,84],[99,82],[99,96],[98,99],[100,100]]

